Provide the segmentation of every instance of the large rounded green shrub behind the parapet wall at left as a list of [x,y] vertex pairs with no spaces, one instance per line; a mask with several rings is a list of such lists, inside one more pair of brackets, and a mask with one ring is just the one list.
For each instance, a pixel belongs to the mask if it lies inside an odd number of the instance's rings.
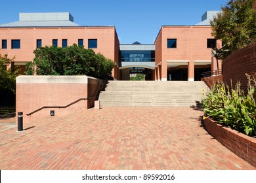
[[83,46],[68,46],[66,48],[45,46],[34,51],[35,58],[26,65],[27,75],[33,74],[37,67],[37,75],[87,75],[96,78],[106,78],[111,75],[114,62],[102,54],[95,54]]

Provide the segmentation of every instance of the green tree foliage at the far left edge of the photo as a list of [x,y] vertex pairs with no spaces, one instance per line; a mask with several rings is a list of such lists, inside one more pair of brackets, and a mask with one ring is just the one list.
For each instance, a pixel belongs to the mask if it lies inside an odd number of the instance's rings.
[[0,90],[10,90],[15,93],[16,76],[18,76],[18,69],[7,69],[15,58],[8,58],[8,54],[0,54]]

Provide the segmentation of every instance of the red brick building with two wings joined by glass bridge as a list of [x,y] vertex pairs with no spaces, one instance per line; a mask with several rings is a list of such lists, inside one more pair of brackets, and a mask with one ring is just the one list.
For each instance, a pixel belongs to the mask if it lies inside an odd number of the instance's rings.
[[80,26],[68,12],[20,13],[18,22],[0,25],[0,52],[15,56],[14,66],[24,73],[36,48],[75,43],[112,59],[115,80],[138,73],[146,80],[200,80],[202,72],[215,67],[212,48],[221,46],[211,36],[209,21],[215,14],[206,12],[197,25],[162,26],[154,44],[119,44],[114,26]]

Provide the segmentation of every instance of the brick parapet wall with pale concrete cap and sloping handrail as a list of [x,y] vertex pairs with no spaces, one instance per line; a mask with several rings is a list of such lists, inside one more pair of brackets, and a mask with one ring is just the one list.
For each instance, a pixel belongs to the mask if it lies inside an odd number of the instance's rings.
[[[89,76],[18,76],[16,78],[16,114],[23,112],[24,122],[42,117],[60,117],[68,115],[75,110],[94,107],[97,88],[102,80]],[[41,107],[64,107],[81,100],[67,108],[43,108],[31,115]],[[54,116],[50,111],[54,110]]]

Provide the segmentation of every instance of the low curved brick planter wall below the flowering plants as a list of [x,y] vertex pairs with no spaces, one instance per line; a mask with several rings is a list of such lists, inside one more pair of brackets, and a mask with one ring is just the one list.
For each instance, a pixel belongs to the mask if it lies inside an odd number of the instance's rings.
[[204,120],[204,125],[208,133],[223,146],[256,167],[256,138],[248,137],[230,127],[224,127],[209,118]]

